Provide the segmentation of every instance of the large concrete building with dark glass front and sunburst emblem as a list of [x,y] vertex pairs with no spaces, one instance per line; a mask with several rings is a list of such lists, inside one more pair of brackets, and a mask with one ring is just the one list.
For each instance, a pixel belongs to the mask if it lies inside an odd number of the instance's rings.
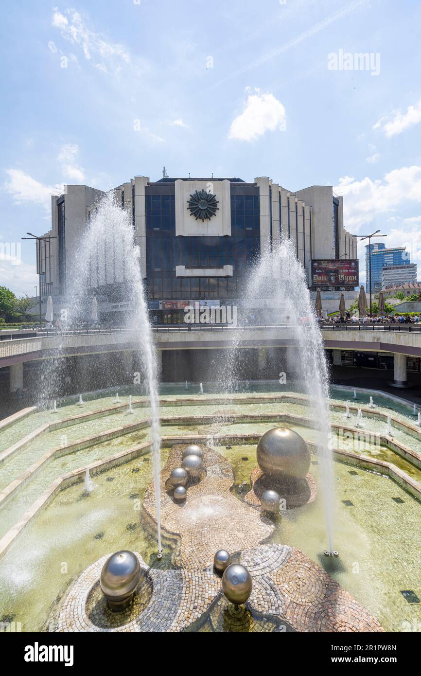
[[[158,321],[177,321],[172,310],[176,313],[183,301],[241,297],[247,264],[285,236],[307,270],[309,286],[312,260],[341,264],[357,258],[356,239],[343,226],[343,199],[330,186],[293,193],[266,177],[247,183],[235,177],[169,178],[164,172],[155,182],[135,176],[114,193],[132,220],[149,308],[158,312]],[[56,239],[43,243],[41,291],[55,302],[66,293],[78,241],[104,194],[66,185],[64,195],[51,198],[47,235]],[[118,310],[112,293],[121,280],[111,282],[106,290],[98,280],[93,284],[101,316]],[[354,287],[337,282],[322,291],[332,297]]]

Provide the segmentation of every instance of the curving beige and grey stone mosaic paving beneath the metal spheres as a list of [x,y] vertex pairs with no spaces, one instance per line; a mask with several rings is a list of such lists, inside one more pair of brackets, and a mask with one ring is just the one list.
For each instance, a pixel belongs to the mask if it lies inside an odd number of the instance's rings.
[[[153,587],[149,604],[138,617],[104,629],[89,619],[86,600],[110,555],[106,554],[68,590],[59,606],[56,631],[382,631],[378,621],[305,554],[289,546],[262,544],[274,526],[252,503],[230,493],[232,468],[215,450],[204,449],[201,481],[189,485],[182,504],[174,502],[168,477],[180,466],[183,448],[172,448],[161,476],[162,525],[168,537],[177,539],[173,563],[180,568],[151,569],[137,554]],[[253,475],[255,483],[259,475]],[[314,499],[314,479],[312,475],[306,479]],[[143,507],[153,521],[152,485]],[[247,604],[237,609],[222,594],[213,569],[214,553],[220,548],[237,553],[235,558],[253,579]]]

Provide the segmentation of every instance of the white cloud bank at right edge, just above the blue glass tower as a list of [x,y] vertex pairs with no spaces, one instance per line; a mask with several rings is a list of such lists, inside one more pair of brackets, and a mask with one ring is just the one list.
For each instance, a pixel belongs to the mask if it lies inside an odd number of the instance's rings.
[[393,169],[378,180],[343,176],[334,190],[344,197],[345,227],[358,231],[378,214],[393,212],[408,201],[421,202],[421,166]]

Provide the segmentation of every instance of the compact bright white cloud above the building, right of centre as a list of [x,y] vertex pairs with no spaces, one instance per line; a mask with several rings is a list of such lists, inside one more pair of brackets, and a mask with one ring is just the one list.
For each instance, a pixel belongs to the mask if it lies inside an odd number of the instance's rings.
[[[250,91],[247,88],[246,91]],[[249,93],[241,115],[232,120],[229,139],[254,141],[266,131],[285,128],[285,108],[273,94]]]

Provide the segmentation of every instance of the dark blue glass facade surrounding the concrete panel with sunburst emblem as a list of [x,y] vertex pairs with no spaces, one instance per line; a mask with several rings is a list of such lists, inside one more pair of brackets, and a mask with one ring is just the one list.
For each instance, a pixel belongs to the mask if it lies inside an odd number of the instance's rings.
[[[231,185],[229,237],[176,237],[175,185],[145,189],[148,299],[232,299],[241,294],[243,274],[260,251],[259,190]],[[177,278],[176,266],[232,265],[232,277]]]

